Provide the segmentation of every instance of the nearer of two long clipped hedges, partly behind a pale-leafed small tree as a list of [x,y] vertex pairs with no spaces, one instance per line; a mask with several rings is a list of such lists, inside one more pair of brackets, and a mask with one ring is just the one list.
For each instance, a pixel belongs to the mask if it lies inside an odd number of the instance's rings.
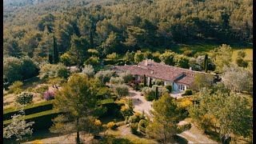
[[[36,114],[26,115],[24,120],[26,122],[35,122],[32,126],[34,130],[47,130],[52,126],[52,118],[55,118],[59,113],[56,110],[46,110]],[[3,122],[3,126],[7,126],[12,122],[11,119]]]

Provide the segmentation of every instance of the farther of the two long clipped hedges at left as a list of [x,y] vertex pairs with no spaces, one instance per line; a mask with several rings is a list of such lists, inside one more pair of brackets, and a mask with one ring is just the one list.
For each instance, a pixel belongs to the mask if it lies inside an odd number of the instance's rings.
[[[53,102],[54,102],[54,100],[50,100],[50,101],[40,102],[40,103],[30,105],[30,106],[25,106],[23,110],[25,111],[26,115],[36,114],[36,113],[46,111],[46,110],[52,110]],[[4,110],[3,111],[3,120],[5,121],[8,119],[11,119],[11,116],[13,116],[14,114],[18,114],[18,111],[20,111],[20,110],[15,110],[14,107]]]

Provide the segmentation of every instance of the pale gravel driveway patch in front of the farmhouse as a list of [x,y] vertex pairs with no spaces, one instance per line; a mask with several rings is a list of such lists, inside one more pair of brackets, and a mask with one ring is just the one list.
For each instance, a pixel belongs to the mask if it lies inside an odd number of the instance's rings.
[[146,101],[146,99],[141,96],[141,92],[130,90],[130,94],[128,97],[132,99],[133,105],[134,105],[134,111],[143,111],[150,115],[150,110],[153,110],[151,104],[152,102]]

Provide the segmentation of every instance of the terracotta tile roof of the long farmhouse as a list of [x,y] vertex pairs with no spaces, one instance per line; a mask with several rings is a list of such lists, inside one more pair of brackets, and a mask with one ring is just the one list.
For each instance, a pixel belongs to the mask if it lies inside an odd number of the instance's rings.
[[[168,66],[162,63],[157,63],[151,60],[144,60],[138,63],[137,65],[125,65],[125,66],[114,66],[114,70],[122,70],[122,71],[130,71],[130,74],[137,74],[137,75],[146,75],[146,77],[151,78],[158,78],[166,81],[175,81],[182,82],[185,84],[190,84],[194,80],[194,76],[198,72],[194,70],[187,70],[175,66]],[[185,76],[182,79],[181,76]]]

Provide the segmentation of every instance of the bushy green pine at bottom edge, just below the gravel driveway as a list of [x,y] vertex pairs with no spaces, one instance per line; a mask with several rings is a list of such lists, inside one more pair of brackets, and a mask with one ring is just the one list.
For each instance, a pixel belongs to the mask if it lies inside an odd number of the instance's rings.
[[186,114],[182,114],[182,110],[169,94],[163,94],[153,102],[152,107],[154,110],[150,114],[153,114],[154,119],[146,126],[146,134],[160,143],[173,143],[173,136],[179,133],[177,124]]

